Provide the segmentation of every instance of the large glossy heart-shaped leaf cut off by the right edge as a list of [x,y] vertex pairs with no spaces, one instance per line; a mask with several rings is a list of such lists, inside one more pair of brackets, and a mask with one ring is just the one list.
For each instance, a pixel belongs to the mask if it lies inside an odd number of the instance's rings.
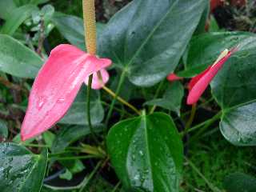
[[256,37],[245,38],[219,71],[211,88],[222,107],[220,129],[234,145],[256,145]]

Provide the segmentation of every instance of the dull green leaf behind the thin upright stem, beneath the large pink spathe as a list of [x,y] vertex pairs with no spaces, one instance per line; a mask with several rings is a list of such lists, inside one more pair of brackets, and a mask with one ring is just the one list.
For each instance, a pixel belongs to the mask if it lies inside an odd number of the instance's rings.
[[[62,118],[60,123],[72,124],[72,125],[88,125],[87,113],[86,113],[86,92],[81,90],[78,94],[75,102],[73,102],[70,110]],[[98,91],[93,91],[90,96],[90,115],[93,125],[102,122],[104,118],[104,109],[100,100]]]

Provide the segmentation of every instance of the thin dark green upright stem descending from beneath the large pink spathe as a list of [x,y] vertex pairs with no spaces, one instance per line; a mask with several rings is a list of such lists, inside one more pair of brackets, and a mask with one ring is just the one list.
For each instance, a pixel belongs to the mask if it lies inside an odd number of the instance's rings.
[[89,80],[88,80],[88,86],[87,86],[86,112],[87,112],[87,120],[88,120],[88,126],[90,128],[90,133],[92,134],[94,141],[99,144],[98,138],[97,138],[96,134],[94,133],[94,129],[91,124],[91,118],[90,118],[90,90],[91,90],[92,82],[93,82],[93,74],[90,74]]

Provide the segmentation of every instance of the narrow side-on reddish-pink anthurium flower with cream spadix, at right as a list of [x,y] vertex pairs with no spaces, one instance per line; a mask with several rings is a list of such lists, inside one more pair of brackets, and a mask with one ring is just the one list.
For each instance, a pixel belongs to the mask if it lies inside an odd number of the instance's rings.
[[190,83],[188,85],[188,89],[190,92],[186,100],[186,103],[188,105],[193,105],[194,103],[198,102],[198,99],[206,90],[207,86],[213,80],[215,75],[218,74],[218,71],[222,68],[223,64],[236,50],[237,48],[234,48],[230,51],[224,50],[212,66],[209,66],[201,74],[198,74],[190,80]]

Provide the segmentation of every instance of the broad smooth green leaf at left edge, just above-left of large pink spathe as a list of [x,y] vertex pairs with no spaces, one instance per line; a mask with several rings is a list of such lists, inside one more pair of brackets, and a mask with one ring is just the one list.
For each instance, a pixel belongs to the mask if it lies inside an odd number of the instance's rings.
[[0,34],[0,70],[19,78],[34,78],[42,59],[6,34]]

